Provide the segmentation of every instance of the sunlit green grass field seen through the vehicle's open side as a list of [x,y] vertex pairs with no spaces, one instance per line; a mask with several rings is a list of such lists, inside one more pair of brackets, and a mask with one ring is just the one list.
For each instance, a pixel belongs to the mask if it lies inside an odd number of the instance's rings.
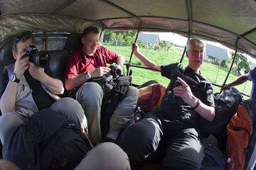
[[[116,46],[110,46],[110,45],[104,45],[104,46],[114,52],[119,53],[120,55],[124,55],[126,60],[125,63],[129,62],[129,57],[131,56],[131,52],[132,52],[131,47],[121,47],[121,46],[116,47]],[[152,62],[155,62],[156,64],[170,64],[174,62],[179,62],[181,60],[181,56],[183,53],[183,47],[174,47],[174,46],[171,47],[170,51],[161,51],[161,50],[156,51],[156,50],[146,49],[146,48],[140,48],[139,50],[140,52],[142,52],[142,54],[146,55],[146,57],[148,57]],[[132,55],[131,64],[144,67],[144,64],[142,64],[142,62],[140,62],[137,59],[137,57],[135,57],[134,55]],[[187,64],[188,64],[188,59],[185,57],[183,60],[183,65],[186,66]],[[126,71],[126,69],[124,69],[124,71]],[[201,74],[203,74],[203,77],[210,80],[212,83],[221,85],[223,84],[223,81],[225,80],[225,77],[228,74],[228,69],[223,67],[218,67],[217,65],[211,64],[210,62],[204,62],[203,66],[201,67]],[[217,74],[218,74],[218,77],[217,77]],[[239,76],[240,74],[231,72],[227,82],[233,81]],[[152,72],[151,70],[132,67],[132,82],[134,84],[143,84],[144,82],[151,79],[158,81],[164,86],[167,86],[169,84],[169,79],[161,77],[161,74],[159,72]],[[252,89],[252,82],[247,81],[245,84],[236,86],[236,88],[240,92],[250,95],[250,91]],[[213,86],[213,91],[215,93],[220,92],[220,88],[218,86]]]

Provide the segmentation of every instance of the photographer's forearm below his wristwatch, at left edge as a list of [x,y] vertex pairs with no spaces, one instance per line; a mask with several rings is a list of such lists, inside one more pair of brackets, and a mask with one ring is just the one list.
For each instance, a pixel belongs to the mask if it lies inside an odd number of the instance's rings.
[[17,86],[18,84],[16,82],[11,81],[9,81],[9,83],[7,84],[6,90],[4,91],[4,94],[1,96],[0,99],[0,108],[2,114],[14,111]]

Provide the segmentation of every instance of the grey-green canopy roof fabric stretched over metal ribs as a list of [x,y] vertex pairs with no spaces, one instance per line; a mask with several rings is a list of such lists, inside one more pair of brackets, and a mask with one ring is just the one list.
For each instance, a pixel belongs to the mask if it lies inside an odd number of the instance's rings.
[[256,58],[255,0],[1,0],[0,41],[22,30],[174,32]]

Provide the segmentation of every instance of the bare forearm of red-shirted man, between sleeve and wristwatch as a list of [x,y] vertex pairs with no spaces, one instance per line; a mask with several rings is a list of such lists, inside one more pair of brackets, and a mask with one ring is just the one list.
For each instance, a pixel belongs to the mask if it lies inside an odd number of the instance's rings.
[[85,73],[82,73],[82,74],[79,74],[78,76],[65,79],[65,88],[68,91],[70,91],[80,86],[81,84],[84,84],[86,81],[87,79],[85,79]]

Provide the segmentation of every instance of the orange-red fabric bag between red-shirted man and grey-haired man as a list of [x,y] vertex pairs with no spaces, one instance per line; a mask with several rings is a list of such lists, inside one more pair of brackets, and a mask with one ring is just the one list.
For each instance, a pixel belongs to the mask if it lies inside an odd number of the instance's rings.
[[154,109],[159,108],[165,90],[166,88],[161,84],[142,87],[139,89],[137,105],[140,106],[143,111],[154,111]]

